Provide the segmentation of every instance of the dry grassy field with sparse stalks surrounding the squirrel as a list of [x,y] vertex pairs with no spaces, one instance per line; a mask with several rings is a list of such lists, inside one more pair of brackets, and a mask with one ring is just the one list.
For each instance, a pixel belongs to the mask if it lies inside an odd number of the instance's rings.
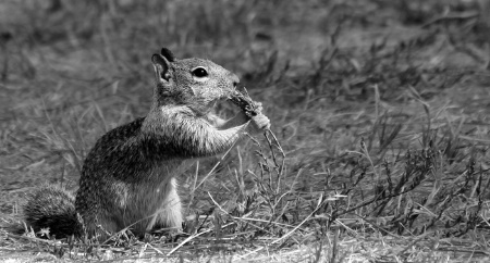
[[[488,262],[489,17],[488,0],[3,0],[0,261]],[[161,47],[241,76],[278,140],[179,178],[186,234],[13,231],[26,193],[76,190],[95,141],[147,113]]]

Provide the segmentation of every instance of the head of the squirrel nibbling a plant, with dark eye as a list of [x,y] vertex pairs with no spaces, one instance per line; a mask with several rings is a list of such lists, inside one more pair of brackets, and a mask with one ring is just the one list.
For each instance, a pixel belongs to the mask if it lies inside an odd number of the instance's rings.
[[240,82],[235,74],[209,60],[177,60],[166,48],[160,54],[154,54],[151,62],[157,80],[154,92],[156,107],[188,105],[193,111],[206,114]]

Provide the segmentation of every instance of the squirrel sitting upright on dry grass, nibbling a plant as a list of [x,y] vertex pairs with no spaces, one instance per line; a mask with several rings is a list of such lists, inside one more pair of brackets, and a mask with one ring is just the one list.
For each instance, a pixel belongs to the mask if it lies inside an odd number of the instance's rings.
[[179,229],[183,215],[176,178],[197,159],[225,152],[246,133],[269,129],[261,107],[257,114],[240,111],[228,121],[211,113],[218,101],[237,92],[238,77],[222,66],[179,60],[167,48],[151,62],[156,86],[149,113],[96,142],[76,198],[53,186],[27,198],[24,216],[34,230],[49,227],[57,238],[97,238],[126,227],[137,236]]

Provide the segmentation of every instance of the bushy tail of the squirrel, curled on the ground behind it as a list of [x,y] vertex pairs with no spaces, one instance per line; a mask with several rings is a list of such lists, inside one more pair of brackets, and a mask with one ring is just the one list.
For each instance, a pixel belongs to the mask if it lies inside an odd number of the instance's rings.
[[82,223],[75,211],[75,198],[68,191],[45,186],[29,195],[24,216],[35,231],[49,227],[50,236],[63,238],[82,234]]

